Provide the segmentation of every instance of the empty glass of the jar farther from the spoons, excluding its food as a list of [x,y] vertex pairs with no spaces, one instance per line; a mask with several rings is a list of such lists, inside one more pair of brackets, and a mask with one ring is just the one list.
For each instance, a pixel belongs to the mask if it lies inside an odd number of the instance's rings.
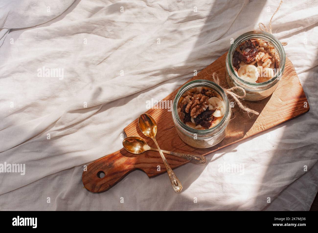
[[[233,53],[236,50],[237,46],[239,46],[242,42],[248,39],[262,39],[269,43],[271,43],[280,58],[279,68],[276,71],[275,76],[272,79],[267,80],[262,83],[252,83],[241,79],[237,73],[234,72],[234,68],[232,65]],[[245,92],[245,100],[256,101],[260,99],[265,99],[267,96],[271,95],[276,87],[278,86],[278,82],[281,79],[281,76],[284,72],[285,68],[285,50],[281,45],[280,41],[275,38],[272,34],[264,32],[264,31],[249,31],[239,36],[234,40],[231,45],[229,52],[226,57],[226,72],[227,72],[227,83],[230,87],[239,86],[242,87]],[[238,94],[242,94],[239,93]]]

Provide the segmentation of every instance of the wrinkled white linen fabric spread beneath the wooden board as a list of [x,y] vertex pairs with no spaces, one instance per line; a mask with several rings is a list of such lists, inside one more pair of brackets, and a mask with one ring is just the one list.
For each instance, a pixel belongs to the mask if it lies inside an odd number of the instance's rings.
[[[308,210],[318,190],[315,1],[286,1],[272,24],[288,43],[308,113],[208,155],[204,166],[175,169],[181,193],[166,174],[142,171],[100,194],[81,182],[84,164],[122,148],[123,128],[147,100],[181,86],[232,38],[267,25],[278,4],[3,1],[0,164],[25,164],[25,175],[0,173],[0,209]],[[224,163],[244,165],[244,174],[219,172]]]

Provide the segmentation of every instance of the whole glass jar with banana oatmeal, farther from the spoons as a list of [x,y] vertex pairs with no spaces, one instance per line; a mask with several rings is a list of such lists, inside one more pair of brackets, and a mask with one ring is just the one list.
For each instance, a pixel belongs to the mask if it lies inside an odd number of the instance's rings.
[[280,41],[267,32],[250,31],[239,36],[229,49],[226,80],[230,87],[245,90],[245,100],[265,99],[278,86],[284,67],[285,50]]

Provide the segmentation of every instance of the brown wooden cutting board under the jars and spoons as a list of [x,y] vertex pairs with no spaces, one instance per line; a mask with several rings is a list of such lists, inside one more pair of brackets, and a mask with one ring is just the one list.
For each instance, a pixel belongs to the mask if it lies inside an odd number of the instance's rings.
[[[223,80],[223,86],[228,88],[225,82],[226,54],[227,53],[204,68],[197,76],[188,82],[195,79],[207,79],[212,81],[211,75],[209,74],[216,72],[220,80]],[[163,100],[173,100],[179,88]],[[151,99],[150,96],[149,99]],[[232,100],[230,99],[230,101]],[[305,107],[305,102],[307,102],[307,107]],[[243,104],[258,111],[260,114],[258,116],[250,115],[249,117],[247,113],[242,112],[239,107],[235,105],[234,108],[232,108],[231,121],[227,127],[225,138],[216,146],[205,149],[188,146],[179,138],[172,121],[172,114],[168,112],[167,109],[149,109],[146,113],[150,114],[156,120],[158,125],[156,139],[162,150],[207,155],[309,111],[308,100],[301,87],[294,65],[288,58],[286,58],[282,79],[274,93],[266,99],[255,102],[243,101]],[[127,136],[139,135],[146,140],[150,147],[156,147],[150,138],[147,138],[140,132],[138,119],[124,128],[124,131]],[[165,154],[165,156],[171,168],[176,168],[189,162],[172,155]],[[161,167],[160,171],[157,171],[158,165]],[[83,172],[82,180],[85,188],[88,190],[92,192],[102,192],[113,187],[129,172],[136,169],[143,170],[149,177],[166,173],[165,166],[158,152],[146,151],[136,155],[122,148],[113,154],[109,154],[89,164],[87,171]],[[100,173],[104,173],[105,176],[99,178]],[[178,178],[182,183],[182,177]],[[167,182],[169,182],[168,175]]]

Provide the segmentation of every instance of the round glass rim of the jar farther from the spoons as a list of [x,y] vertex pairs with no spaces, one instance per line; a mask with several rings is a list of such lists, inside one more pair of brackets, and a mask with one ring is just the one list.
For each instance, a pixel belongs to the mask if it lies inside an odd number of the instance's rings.
[[[241,44],[242,42],[244,42],[248,39],[253,39],[253,38],[267,40],[275,47],[276,50],[278,50],[277,52],[279,52],[279,55],[280,55],[280,68],[279,68],[278,72],[276,72],[275,76],[272,79],[269,79],[266,82],[261,82],[261,83],[248,82],[248,81],[245,81],[244,79],[241,79],[234,72],[234,68],[232,65],[232,57],[233,57],[233,53],[234,53],[236,47],[239,44]],[[267,86],[268,84],[273,83],[276,80],[279,80],[282,77],[282,74],[283,74],[284,68],[285,68],[285,59],[286,59],[286,55],[285,55],[284,47],[276,37],[274,37],[272,34],[265,32],[265,31],[249,31],[249,32],[246,32],[246,33],[240,35],[238,38],[236,38],[234,40],[233,44],[230,46],[230,49],[229,49],[228,54],[226,56],[226,60],[227,60],[227,63],[229,64],[229,67],[226,66],[226,69],[230,69],[231,73],[235,76],[235,78],[237,78],[240,82],[244,83],[247,86],[263,87],[263,86]],[[227,70],[227,72],[229,73],[229,70]]]

